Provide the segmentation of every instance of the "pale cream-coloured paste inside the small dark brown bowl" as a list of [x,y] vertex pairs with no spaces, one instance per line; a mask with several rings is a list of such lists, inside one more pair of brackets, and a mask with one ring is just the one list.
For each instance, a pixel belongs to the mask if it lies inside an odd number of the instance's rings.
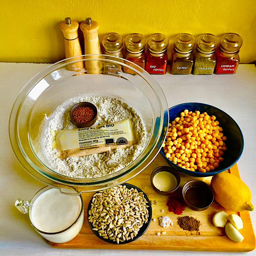
[[153,177],[153,184],[161,191],[172,191],[177,186],[177,179],[169,171],[160,171]]

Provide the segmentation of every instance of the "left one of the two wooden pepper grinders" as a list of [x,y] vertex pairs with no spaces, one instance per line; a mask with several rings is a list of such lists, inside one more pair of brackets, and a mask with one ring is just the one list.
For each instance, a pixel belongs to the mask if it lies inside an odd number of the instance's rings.
[[[81,45],[78,38],[78,30],[79,24],[75,20],[71,20],[71,18],[65,18],[65,21],[60,23],[60,29],[63,32],[65,38],[65,56],[66,58],[71,58],[75,56],[82,55]],[[82,59],[82,57],[78,57],[78,59]],[[69,70],[71,71],[81,71],[84,68],[83,62],[76,62],[72,65],[69,65]]]

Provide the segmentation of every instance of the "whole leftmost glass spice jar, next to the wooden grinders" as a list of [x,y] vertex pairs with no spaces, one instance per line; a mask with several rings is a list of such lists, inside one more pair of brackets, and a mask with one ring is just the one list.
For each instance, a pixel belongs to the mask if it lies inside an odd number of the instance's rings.
[[[123,38],[120,34],[109,33],[102,39],[102,45],[104,48],[104,54],[123,58]],[[118,76],[118,71],[122,72],[122,68],[118,64],[104,62],[103,74]]]

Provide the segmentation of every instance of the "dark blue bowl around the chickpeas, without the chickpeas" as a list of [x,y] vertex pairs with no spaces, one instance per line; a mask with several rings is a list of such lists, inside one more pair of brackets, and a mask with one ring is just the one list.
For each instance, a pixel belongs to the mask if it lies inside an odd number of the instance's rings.
[[222,155],[224,160],[220,162],[219,167],[216,168],[214,171],[209,171],[206,173],[201,173],[199,171],[189,171],[171,162],[167,157],[165,157],[163,149],[161,149],[160,153],[163,155],[167,163],[175,170],[194,177],[207,177],[216,175],[226,169],[229,169],[232,165],[234,165],[242,155],[244,149],[244,138],[242,135],[242,131],[239,128],[238,124],[234,121],[234,119],[221,109],[218,109],[211,105],[207,105],[204,103],[183,103],[169,109],[169,123],[171,123],[171,121],[173,121],[176,117],[180,117],[179,114],[185,109],[193,112],[198,110],[200,111],[200,113],[206,112],[210,116],[216,116],[216,120],[220,122],[220,126],[223,128],[224,136],[227,137],[227,140],[225,141],[227,149]]

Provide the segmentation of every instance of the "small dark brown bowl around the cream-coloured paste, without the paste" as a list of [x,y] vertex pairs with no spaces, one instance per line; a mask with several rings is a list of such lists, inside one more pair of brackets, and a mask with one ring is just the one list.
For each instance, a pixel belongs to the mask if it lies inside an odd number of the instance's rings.
[[[176,185],[176,187],[175,187],[174,189],[172,189],[171,191],[162,191],[162,190],[158,189],[157,187],[155,187],[155,185],[154,185],[154,183],[153,183],[153,178],[154,178],[154,176],[155,176],[157,173],[159,173],[159,172],[161,172],[161,171],[168,171],[169,173],[173,174],[174,177],[176,178],[176,180],[177,180],[177,185]],[[150,176],[150,182],[151,182],[151,186],[153,187],[153,189],[155,190],[155,192],[157,192],[158,194],[160,194],[160,195],[162,195],[162,196],[169,196],[169,195],[171,195],[173,192],[175,192],[175,191],[178,189],[179,184],[180,184],[180,176],[179,176],[179,173],[178,173],[175,169],[173,169],[173,168],[171,168],[171,167],[169,167],[169,166],[160,166],[160,167],[157,167],[156,169],[154,169],[154,170],[152,171],[151,176]]]

